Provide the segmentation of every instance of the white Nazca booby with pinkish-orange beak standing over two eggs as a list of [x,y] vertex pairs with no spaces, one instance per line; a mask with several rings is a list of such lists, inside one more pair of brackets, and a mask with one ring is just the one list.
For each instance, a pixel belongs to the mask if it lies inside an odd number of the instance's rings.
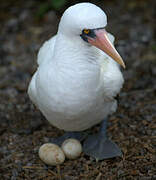
[[124,82],[119,64],[125,64],[106,25],[106,14],[94,4],[69,7],[57,34],[40,48],[38,68],[28,88],[30,99],[46,119],[72,131],[71,135],[104,120],[99,133],[84,142],[84,152],[96,159],[121,155],[106,136],[106,121],[116,111],[114,97]]

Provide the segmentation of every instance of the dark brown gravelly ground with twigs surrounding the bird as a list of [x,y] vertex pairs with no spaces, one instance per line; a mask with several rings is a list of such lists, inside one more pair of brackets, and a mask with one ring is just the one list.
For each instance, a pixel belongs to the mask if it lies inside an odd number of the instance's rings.
[[39,147],[63,132],[33,106],[27,87],[41,44],[57,32],[61,13],[69,4],[39,19],[37,12],[43,1],[1,0],[0,179],[156,179],[156,3],[92,2],[107,13],[107,30],[115,35],[116,47],[127,65],[119,107],[110,117],[108,129],[123,157],[95,162],[82,154],[58,167],[39,159]]

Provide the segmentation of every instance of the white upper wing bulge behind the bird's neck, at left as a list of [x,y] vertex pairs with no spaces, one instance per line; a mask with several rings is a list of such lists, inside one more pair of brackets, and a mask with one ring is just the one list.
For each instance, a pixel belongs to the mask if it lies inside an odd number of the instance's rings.
[[53,50],[55,45],[56,35],[46,41],[40,48],[37,55],[37,64],[40,66],[45,59],[50,60],[53,56]]

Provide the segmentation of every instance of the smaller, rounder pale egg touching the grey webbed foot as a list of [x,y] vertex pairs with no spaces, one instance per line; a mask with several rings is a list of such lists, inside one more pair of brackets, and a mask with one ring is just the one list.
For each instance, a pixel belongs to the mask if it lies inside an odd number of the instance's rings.
[[82,145],[76,139],[66,139],[62,144],[62,150],[68,159],[76,159],[82,152]]

